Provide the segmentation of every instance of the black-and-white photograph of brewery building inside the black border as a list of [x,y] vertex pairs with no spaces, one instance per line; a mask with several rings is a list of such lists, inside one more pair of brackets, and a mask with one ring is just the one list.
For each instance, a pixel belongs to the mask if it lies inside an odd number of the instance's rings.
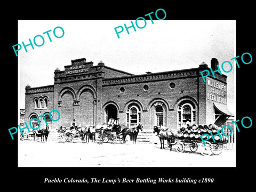
[[236,21],[145,19],[18,21],[19,167],[236,166]]

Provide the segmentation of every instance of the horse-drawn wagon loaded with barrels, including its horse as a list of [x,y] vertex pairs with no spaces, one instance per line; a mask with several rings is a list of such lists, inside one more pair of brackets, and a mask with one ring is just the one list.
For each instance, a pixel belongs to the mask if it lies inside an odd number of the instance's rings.
[[206,133],[213,132],[215,134],[217,129],[212,126],[208,127],[207,125],[199,125],[198,127],[195,125],[191,127],[188,126],[186,129],[182,128],[178,131],[171,131],[168,129],[163,130],[161,127],[154,127],[154,131],[158,132],[159,139],[166,139],[171,149],[174,147],[179,153],[182,153],[185,151],[185,148],[189,148],[191,152],[195,153],[196,151],[199,151],[199,153],[204,156],[221,154],[223,144],[227,143],[225,137],[222,137],[221,139],[219,135],[215,135],[214,140],[213,138],[210,138],[209,140],[204,141],[205,145],[203,144],[201,135],[202,137],[206,137],[207,135],[204,135]]

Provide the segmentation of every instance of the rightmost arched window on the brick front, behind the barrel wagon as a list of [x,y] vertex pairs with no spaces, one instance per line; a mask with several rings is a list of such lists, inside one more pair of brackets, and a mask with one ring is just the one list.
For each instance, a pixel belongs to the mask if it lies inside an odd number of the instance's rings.
[[178,126],[182,127],[186,122],[196,123],[195,104],[189,100],[180,102],[178,106]]

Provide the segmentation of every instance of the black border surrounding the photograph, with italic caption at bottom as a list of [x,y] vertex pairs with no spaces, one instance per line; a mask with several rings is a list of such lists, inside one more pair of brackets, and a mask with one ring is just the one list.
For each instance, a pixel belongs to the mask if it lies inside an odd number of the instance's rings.
[[[18,3],[19,4],[19,3]],[[159,189],[160,184],[151,185],[149,183],[129,183],[122,186],[120,184],[103,184],[92,183],[91,185],[79,184],[79,183],[43,183],[45,177],[51,176],[51,178],[151,178],[156,179],[159,177],[164,178],[214,178],[213,183],[193,185],[190,183],[167,183],[163,186],[165,189],[173,189],[173,187],[179,187],[179,189],[189,188],[202,188],[207,190],[210,188],[220,189],[232,189],[236,186],[252,186],[253,185],[253,172],[250,174],[254,167],[253,147],[254,147],[254,135],[255,135],[255,115],[252,113],[254,105],[254,62],[255,48],[253,49],[254,37],[254,19],[253,10],[254,6],[251,3],[239,2],[224,5],[223,2],[204,2],[204,3],[166,3],[156,4],[155,2],[148,2],[147,4],[132,2],[117,2],[103,5],[92,5],[86,2],[71,2],[68,5],[65,2],[53,5],[52,3],[46,3],[45,5],[38,4],[37,6],[31,6],[31,4],[12,5],[9,14],[4,18],[4,62],[2,63],[2,85],[4,99],[4,119],[3,119],[3,149],[4,155],[4,171],[2,175],[4,177],[3,183],[6,187],[15,187],[17,190],[19,187],[26,188],[26,190],[35,190],[34,187],[40,189],[51,189],[51,187],[66,188],[71,187],[73,189],[86,189],[87,187],[103,187],[105,189],[117,188],[118,190],[127,189],[133,187],[142,186],[143,189],[150,188],[152,190]],[[236,20],[236,55],[242,55],[244,52],[251,53],[253,57],[250,65],[240,65],[237,68],[236,73],[236,105],[237,105],[237,117],[236,119],[242,119],[244,116],[249,116],[253,120],[253,126],[250,129],[240,129],[241,132],[237,133],[237,167],[18,167],[18,139],[14,137],[11,140],[8,129],[18,125],[18,58],[12,49],[12,45],[18,43],[18,20],[135,20],[138,17],[142,17],[150,12],[155,12],[157,9],[164,9],[166,11],[166,20]],[[7,11],[8,12],[8,11]],[[4,16],[4,15],[3,15]],[[254,39],[254,40],[253,40]],[[7,55],[6,55],[7,53]],[[85,55],[86,56],[86,55]],[[229,58],[227,58],[229,59]],[[7,74],[5,76],[4,74]],[[238,124],[241,125],[241,124]],[[12,185],[13,184],[13,185]],[[78,187],[78,188],[74,188]],[[136,187],[136,188],[134,188]],[[206,188],[205,188],[206,187]],[[34,189],[33,189],[34,188]],[[138,189],[138,188],[137,188]]]

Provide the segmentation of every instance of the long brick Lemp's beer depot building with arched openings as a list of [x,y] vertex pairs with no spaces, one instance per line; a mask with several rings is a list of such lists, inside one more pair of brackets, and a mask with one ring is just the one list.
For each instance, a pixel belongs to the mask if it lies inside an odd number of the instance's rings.
[[[211,68],[217,64],[212,59]],[[187,121],[221,126],[233,116],[227,109],[227,76],[215,73],[205,83],[200,74],[205,69],[210,70],[203,62],[198,68],[133,75],[103,62],[93,66],[85,58],[71,60],[64,70],[55,69],[53,85],[26,86],[25,121],[44,122],[39,116],[48,113],[52,128],[69,126],[74,118],[84,126],[107,123],[111,117],[123,126],[142,123],[143,129],[177,128]],[[49,117],[53,109],[61,114],[57,122]],[[37,127],[37,121],[31,124]]]

